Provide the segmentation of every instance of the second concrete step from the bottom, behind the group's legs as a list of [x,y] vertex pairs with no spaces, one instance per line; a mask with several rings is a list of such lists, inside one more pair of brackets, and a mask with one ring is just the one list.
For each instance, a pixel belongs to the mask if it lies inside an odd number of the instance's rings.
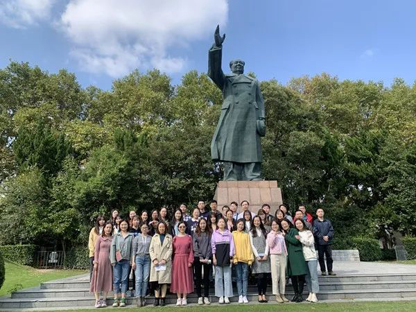
[[[348,290],[377,290],[377,289],[404,289],[416,288],[414,281],[341,281],[338,283],[324,282],[320,283],[320,291],[348,291]],[[249,286],[249,292],[255,292],[256,286]],[[268,286],[271,290],[271,285]],[[291,285],[286,286],[287,291],[293,291]],[[214,289],[211,289],[214,293]],[[24,291],[12,293],[12,298],[49,298],[49,297],[92,297],[89,288],[31,288]]]

